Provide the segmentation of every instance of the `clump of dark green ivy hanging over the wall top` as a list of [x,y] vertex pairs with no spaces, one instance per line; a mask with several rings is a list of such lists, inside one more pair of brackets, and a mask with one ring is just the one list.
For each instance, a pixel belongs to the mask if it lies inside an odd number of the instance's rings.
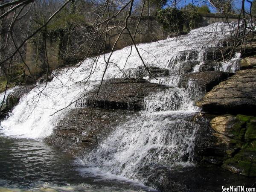
[[187,33],[196,27],[199,19],[197,12],[190,12],[186,9],[166,8],[157,11],[157,20],[169,32]]

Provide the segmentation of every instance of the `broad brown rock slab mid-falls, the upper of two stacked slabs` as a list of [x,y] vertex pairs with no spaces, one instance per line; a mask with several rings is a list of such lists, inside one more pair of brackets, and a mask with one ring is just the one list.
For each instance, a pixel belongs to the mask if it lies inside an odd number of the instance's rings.
[[[104,109],[141,110],[143,99],[150,93],[171,89],[165,85],[150,83],[145,79],[109,79],[102,83],[99,94],[92,93],[76,103],[77,107],[94,107]],[[95,92],[97,89],[94,90]]]

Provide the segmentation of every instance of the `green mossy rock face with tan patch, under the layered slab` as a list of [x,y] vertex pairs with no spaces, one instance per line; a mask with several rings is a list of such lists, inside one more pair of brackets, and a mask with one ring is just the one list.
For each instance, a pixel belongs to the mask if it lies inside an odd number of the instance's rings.
[[[210,121],[212,130],[200,133],[201,153],[208,163],[230,172],[256,176],[256,117],[217,116]],[[200,141],[202,142],[202,140]]]

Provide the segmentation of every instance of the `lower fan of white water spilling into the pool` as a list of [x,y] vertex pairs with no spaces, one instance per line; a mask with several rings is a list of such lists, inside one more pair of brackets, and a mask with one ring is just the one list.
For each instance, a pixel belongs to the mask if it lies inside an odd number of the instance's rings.
[[[198,125],[193,113],[140,113],[116,128],[83,159],[86,165],[134,180],[147,165],[191,165]],[[88,171],[88,170],[87,170]],[[99,174],[99,173],[98,173]]]

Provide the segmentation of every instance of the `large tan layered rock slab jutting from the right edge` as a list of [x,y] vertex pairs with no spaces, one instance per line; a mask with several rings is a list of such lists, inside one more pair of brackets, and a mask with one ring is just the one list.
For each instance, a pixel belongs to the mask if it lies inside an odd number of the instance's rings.
[[256,69],[238,71],[213,87],[197,105],[210,113],[256,114]]

